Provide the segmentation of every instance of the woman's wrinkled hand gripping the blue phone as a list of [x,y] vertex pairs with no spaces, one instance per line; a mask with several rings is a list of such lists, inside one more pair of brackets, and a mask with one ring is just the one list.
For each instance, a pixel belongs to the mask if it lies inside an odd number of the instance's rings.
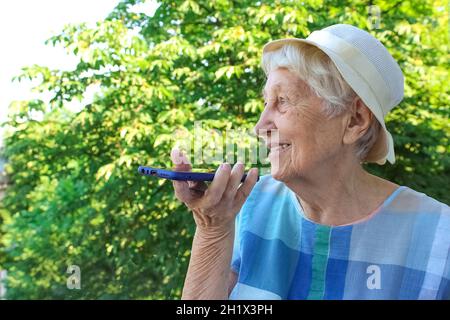
[[[176,171],[191,171],[192,166],[178,149],[171,152]],[[229,231],[258,179],[258,170],[251,169],[245,181],[244,165],[236,163],[231,169],[228,163],[219,166],[214,180],[208,187],[205,182],[173,181],[175,196],[192,210],[198,229],[204,231]]]

